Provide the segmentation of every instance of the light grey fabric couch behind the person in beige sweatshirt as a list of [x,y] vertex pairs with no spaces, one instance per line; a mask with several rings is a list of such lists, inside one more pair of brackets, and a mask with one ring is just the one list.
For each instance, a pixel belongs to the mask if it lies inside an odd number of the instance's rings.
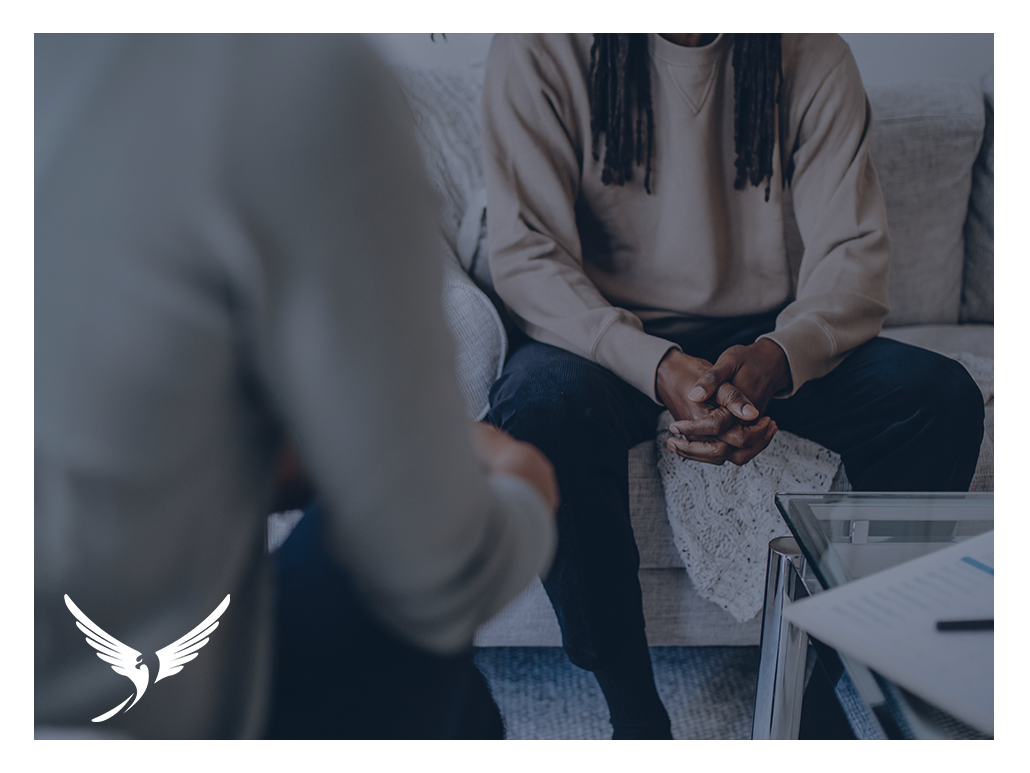
[[[444,305],[457,342],[469,413],[478,418],[485,413],[487,392],[507,350],[486,261],[479,155],[482,68],[407,67],[399,75],[427,171],[442,197],[443,236],[452,256]],[[873,159],[894,250],[891,313],[883,335],[958,356],[963,364],[978,362],[987,418],[971,489],[993,491],[993,75],[978,88],[936,81],[871,90],[869,100]],[[798,261],[802,247],[796,229],[788,227],[786,237]],[[974,357],[963,359],[960,352]],[[985,361],[977,358],[989,360],[986,376]],[[656,462],[654,442],[642,443],[629,455],[630,507],[650,643],[757,644],[761,615],[740,623],[694,592],[674,546]],[[723,474],[723,469],[709,467],[703,474]],[[831,488],[849,488],[843,470]],[[481,646],[560,645],[540,582],[483,626],[476,641]]]

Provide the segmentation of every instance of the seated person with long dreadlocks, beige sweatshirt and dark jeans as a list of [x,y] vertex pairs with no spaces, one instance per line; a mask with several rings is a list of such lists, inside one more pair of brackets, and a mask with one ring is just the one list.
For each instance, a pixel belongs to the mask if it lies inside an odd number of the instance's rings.
[[670,733],[626,469],[663,407],[686,460],[745,464],[784,428],[840,453],[857,490],[968,488],[983,432],[972,379],[877,338],[890,242],[870,124],[835,35],[494,40],[490,268],[525,337],[490,421],[555,465],[545,587],[617,738]]

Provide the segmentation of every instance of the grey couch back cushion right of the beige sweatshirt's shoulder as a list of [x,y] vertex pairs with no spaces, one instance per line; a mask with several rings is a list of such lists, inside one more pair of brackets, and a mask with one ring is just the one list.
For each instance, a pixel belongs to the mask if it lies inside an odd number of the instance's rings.
[[885,326],[957,323],[983,94],[965,81],[926,81],[870,89],[869,102],[893,253]]

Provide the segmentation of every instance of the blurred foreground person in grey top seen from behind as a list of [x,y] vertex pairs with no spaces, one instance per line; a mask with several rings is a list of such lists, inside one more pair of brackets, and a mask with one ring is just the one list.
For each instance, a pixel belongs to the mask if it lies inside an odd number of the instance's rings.
[[[470,439],[386,69],[37,36],[35,82],[37,735],[500,737],[470,645],[556,486]],[[321,505],[269,557],[290,437]]]

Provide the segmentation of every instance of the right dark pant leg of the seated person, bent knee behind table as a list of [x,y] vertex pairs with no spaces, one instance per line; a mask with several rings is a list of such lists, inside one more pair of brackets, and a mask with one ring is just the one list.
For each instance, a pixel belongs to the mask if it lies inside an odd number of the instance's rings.
[[967,491],[984,399],[958,362],[873,338],[768,413],[840,455],[856,491]]

